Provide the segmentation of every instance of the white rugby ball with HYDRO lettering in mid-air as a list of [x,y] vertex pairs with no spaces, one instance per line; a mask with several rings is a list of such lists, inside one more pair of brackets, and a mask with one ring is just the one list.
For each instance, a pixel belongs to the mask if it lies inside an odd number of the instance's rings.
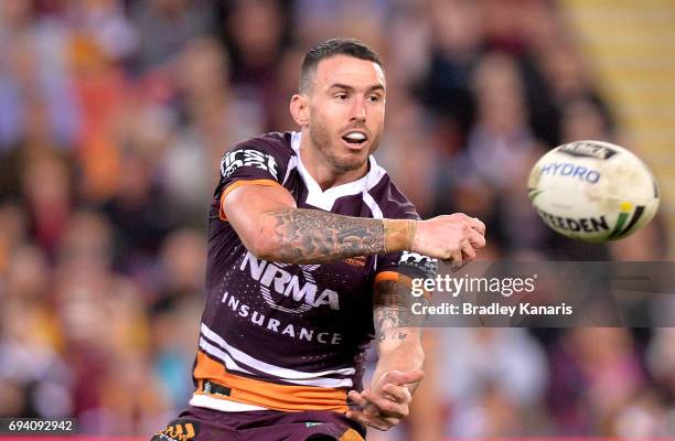
[[529,173],[529,200],[557,233],[588,241],[621,239],[658,208],[658,185],[629,150],[602,141],[556,147]]

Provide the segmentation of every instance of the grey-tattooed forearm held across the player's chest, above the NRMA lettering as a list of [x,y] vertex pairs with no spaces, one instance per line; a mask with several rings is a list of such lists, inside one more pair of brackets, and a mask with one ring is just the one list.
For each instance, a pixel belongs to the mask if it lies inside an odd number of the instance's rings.
[[280,244],[275,260],[326,263],[384,251],[382,219],[342,216],[318,209],[287,208],[268,214]]

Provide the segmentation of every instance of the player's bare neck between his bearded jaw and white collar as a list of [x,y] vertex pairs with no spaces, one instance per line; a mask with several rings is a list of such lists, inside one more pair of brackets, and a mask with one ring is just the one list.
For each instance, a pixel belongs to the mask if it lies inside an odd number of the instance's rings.
[[357,181],[365,176],[369,166],[369,161],[365,161],[363,165],[356,170],[350,170],[347,172],[335,170],[321,151],[312,143],[309,133],[304,130],[300,139],[300,159],[322,191]]

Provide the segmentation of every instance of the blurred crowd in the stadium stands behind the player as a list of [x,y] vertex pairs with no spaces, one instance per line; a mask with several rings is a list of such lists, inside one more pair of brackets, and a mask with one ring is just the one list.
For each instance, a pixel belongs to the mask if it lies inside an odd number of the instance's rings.
[[[673,257],[668,0],[3,0],[0,416],[148,438],[191,391],[205,211],[224,149],[293,129],[303,51],[386,61],[377,157],[424,217],[489,226],[483,259]],[[642,155],[664,204],[610,246],[554,236],[525,176],[547,148]],[[675,331],[435,330],[408,423],[374,440],[675,435]]]

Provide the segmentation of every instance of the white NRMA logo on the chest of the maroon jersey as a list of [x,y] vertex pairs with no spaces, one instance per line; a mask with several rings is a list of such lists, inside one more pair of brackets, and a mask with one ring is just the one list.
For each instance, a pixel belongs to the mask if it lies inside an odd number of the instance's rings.
[[[312,308],[318,308],[328,304],[332,310],[340,310],[340,299],[338,292],[324,289],[318,294],[319,288],[314,282],[312,272],[320,267],[320,265],[301,265],[302,280],[298,275],[292,275],[283,269],[287,265],[268,262],[267,260],[257,259],[250,252],[246,252],[242,266],[239,269],[248,271],[254,280],[260,283],[260,294],[265,302],[271,308],[288,312],[291,314],[301,314],[309,311]],[[292,299],[297,305],[289,308],[289,301],[286,301],[286,305],[279,304],[275,301],[279,299]]]

